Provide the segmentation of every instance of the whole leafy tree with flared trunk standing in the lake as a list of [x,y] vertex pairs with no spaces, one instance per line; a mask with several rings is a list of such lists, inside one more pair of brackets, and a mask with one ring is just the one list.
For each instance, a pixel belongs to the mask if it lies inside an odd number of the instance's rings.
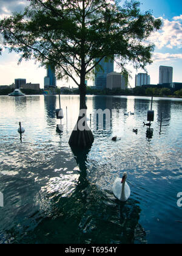
[[[152,63],[153,44],[143,43],[160,29],[161,21],[150,12],[141,13],[140,3],[109,0],[30,0],[24,13],[13,13],[0,21],[4,46],[22,59],[35,59],[52,66],[58,79],[70,77],[79,87],[79,119],[86,118],[86,77],[99,62],[115,59],[126,74],[126,63],[145,68]],[[1,49],[0,49],[1,51]],[[75,78],[79,77],[79,82]],[[91,146],[93,135],[85,129],[73,130],[72,146]]]

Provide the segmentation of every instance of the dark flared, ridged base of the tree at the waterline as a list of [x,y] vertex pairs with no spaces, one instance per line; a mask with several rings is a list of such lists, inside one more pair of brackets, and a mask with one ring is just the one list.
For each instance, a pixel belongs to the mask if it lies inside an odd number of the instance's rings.
[[70,136],[70,147],[78,147],[81,149],[90,148],[93,144],[94,137],[92,131],[87,127],[85,130],[73,130]]

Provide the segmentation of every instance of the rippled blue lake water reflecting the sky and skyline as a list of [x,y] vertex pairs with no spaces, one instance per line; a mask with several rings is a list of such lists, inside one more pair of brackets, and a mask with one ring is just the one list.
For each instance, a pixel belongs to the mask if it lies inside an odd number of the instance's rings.
[[[58,107],[58,96],[0,97],[0,243],[182,243],[182,100],[154,98],[149,131],[150,98],[88,96],[95,141],[76,155],[68,141],[79,97],[61,96],[63,133]],[[99,128],[98,108],[112,110],[110,126]],[[112,194],[124,171],[126,203]]]

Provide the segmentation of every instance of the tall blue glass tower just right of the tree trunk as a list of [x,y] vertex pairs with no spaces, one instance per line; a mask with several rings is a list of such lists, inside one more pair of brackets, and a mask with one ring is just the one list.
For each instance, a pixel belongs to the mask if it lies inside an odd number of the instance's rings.
[[[96,59],[98,61],[98,59]],[[106,61],[106,58],[99,62],[101,68],[98,71],[95,69],[95,87],[98,90],[106,88],[107,74],[113,72],[113,60]]]

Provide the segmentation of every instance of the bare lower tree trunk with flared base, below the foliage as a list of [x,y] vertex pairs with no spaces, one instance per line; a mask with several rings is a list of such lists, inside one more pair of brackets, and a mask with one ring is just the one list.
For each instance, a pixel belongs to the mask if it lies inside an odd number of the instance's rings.
[[85,80],[79,86],[79,116],[75,128],[70,136],[69,144],[73,148],[91,148],[94,141],[92,131],[87,125],[87,106],[86,106],[86,85]]

